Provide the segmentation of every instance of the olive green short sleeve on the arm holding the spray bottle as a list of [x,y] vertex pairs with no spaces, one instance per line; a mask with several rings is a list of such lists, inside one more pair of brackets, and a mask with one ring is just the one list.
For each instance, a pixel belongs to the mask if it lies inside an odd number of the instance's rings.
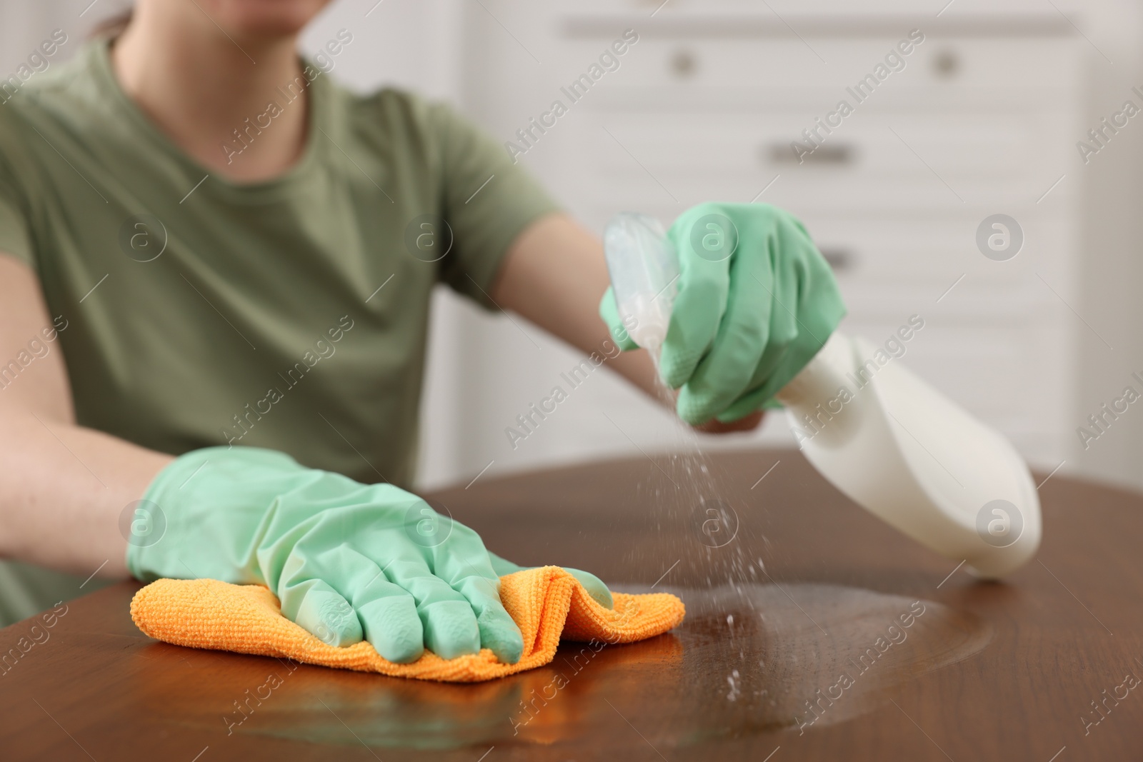
[[432,122],[440,141],[441,215],[453,234],[440,278],[496,310],[489,294],[504,255],[528,225],[559,206],[503,147],[451,109],[434,105]]

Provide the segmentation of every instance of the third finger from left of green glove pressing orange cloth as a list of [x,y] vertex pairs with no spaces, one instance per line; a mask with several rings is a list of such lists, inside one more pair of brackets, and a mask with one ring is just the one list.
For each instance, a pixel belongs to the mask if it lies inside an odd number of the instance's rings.
[[[494,576],[491,569],[488,573]],[[423,558],[393,561],[385,575],[413,595],[429,650],[442,659],[480,651],[480,627],[472,605],[435,576]]]

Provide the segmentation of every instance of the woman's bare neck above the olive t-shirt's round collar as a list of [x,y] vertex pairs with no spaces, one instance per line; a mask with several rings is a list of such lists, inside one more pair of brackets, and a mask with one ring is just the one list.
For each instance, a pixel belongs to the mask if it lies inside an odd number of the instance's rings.
[[[181,149],[224,177],[256,182],[286,171],[305,145],[306,89],[291,88],[301,97],[289,104],[278,91],[302,77],[295,43],[294,35],[234,40],[197,3],[138,3],[112,65]],[[251,128],[266,123],[272,101],[281,109],[269,127]]]

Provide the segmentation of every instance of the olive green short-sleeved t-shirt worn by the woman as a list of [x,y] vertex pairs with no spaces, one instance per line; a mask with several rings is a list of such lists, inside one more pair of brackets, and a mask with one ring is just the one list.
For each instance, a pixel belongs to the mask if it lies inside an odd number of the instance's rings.
[[[504,252],[554,206],[449,109],[305,71],[219,146],[257,141],[307,90],[302,157],[249,184],[160,131],[106,41],[37,74],[0,105],[0,251],[35,270],[66,326],[81,425],[409,487],[433,284],[491,307]],[[19,371],[0,368],[0,386]]]

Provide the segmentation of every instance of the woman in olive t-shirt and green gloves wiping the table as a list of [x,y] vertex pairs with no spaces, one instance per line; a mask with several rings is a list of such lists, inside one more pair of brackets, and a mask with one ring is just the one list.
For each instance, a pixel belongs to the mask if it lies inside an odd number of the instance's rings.
[[[447,107],[299,61],[325,1],[139,0],[0,106],[0,554],[261,583],[334,644],[514,661],[518,567],[400,488],[430,290],[590,351],[625,338],[600,244]],[[770,207],[671,236],[679,412],[757,425],[842,315],[829,268]],[[653,388],[646,353],[613,366]],[[7,573],[23,615],[80,592]]]

